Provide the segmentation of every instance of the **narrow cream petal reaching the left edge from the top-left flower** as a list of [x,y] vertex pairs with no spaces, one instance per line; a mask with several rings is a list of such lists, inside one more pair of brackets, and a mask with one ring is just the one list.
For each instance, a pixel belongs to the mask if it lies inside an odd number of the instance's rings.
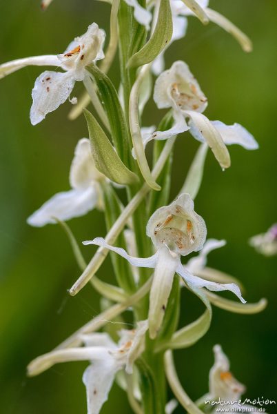
[[13,61],[2,63],[0,65],[0,79],[10,73],[15,72],[25,66],[61,66],[61,61],[57,55],[32,56],[23,59],[15,59]]

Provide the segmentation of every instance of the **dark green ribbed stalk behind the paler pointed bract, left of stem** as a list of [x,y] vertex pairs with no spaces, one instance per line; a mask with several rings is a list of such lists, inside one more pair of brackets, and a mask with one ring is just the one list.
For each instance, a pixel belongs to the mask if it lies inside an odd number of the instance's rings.
[[123,163],[130,167],[130,163],[132,162],[131,137],[127,130],[125,116],[116,89],[112,81],[110,81],[110,78],[101,72],[97,66],[92,64],[87,66],[86,69],[90,72],[90,75],[92,75],[96,83],[100,101],[107,114],[114,148],[116,148],[116,152],[119,154]]

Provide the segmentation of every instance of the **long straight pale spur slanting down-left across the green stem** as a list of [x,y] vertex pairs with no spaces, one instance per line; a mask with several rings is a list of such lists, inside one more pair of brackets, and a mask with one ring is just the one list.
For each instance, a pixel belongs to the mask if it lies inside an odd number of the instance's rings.
[[[163,166],[167,161],[167,157],[169,157],[172,147],[174,145],[175,137],[167,139],[167,143],[161,152],[160,157],[156,165],[153,168],[152,175],[156,179],[161,174],[163,170]],[[138,208],[141,201],[145,198],[145,195],[149,193],[150,187],[147,184],[143,184],[141,190],[134,196],[134,198],[130,201],[129,204],[124,208],[123,212],[119,216],[119,218],[114,222],[113,226],[110,228],[110,231],[107,233],[105,237],[105,242],[107,244],[114,244],[116,238],[119,236],[119,233],[123,230],[127,220],[129,217],[134,213],[136,208]],[[79,279],[74,283],[72,288],[70,289],[70,295],[76,295],[94,276],[96,271],[100,268],[101,264],[104,262],[105,258],[107,257],[108,249],[105,247],[100,247],[97,249],[96,254],[92,257],[90,263],[88,264],[87,268],[85,268],[83,274],[79,277]]]

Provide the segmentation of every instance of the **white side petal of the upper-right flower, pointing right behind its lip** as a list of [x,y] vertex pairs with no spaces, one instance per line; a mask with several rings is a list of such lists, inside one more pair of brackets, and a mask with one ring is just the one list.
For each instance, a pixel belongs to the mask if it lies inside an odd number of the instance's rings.
[[246,150],[256,150],[258,142],[250,132],[240,124],[225,125],[221,121],[212,121],[227,145],[238,144]]

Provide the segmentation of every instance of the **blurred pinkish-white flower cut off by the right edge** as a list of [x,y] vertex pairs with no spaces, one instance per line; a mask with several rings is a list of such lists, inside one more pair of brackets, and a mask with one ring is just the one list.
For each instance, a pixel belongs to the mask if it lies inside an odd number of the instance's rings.
[[262,255],[277,255],[277,224],[273,224],[266,233],[251,237],[249,244]]

